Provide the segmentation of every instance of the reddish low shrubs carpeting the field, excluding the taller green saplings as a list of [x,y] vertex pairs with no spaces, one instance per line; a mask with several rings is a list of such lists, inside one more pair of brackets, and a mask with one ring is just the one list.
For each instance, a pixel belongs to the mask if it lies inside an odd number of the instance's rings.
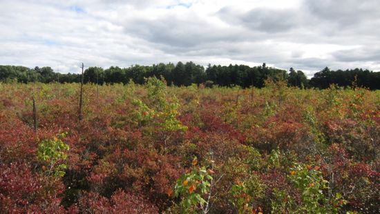
[[[240,89],[239,97],[227,88],[170,88],[167,95],[178,97],[178,119],[188,129],[162,133],[140,124],[133,113],[132,100],[145,101],[146,88],[99,86],[97,96],[97,88],[86,85],[84,119],[79,122],[79,87],[33,87],[39,92],[33,93],[37,133],[32,128],[30,101],[25,99],[32,95],[31,86],[0,87],[4,94],[0,98],[0,213],[175,210],[178,200],[169,197],[168,190],[194,156],[200,165],[213,166],[214,181],[221,177],[213,186],[210,213],[234,213],[230,194],[234,178],[248,179],[252,173],[265,184],[260,195],[265,212],[270,212],[274,188],[299,202],[298,191],[287,182],[294,162],[319,162],[332,193],[348,200],[347,211],[368,208],[376,213],[380,207],[375,93],[355,98],[351,90],[342,90],[330,102],[324,97],[326,91],[287,88],[286,99],[278,103],[274,95],[278,91],[265,88]],[[338,95],[348,99],[347,104]],[[305,113],[310,114],[305,117]],[[48,177],[39,171],[36,149],[41,139],[62,132],[68,133],[64,142],[70,146],[66,175]],[[269,159],[267,154],[277,148]]]

